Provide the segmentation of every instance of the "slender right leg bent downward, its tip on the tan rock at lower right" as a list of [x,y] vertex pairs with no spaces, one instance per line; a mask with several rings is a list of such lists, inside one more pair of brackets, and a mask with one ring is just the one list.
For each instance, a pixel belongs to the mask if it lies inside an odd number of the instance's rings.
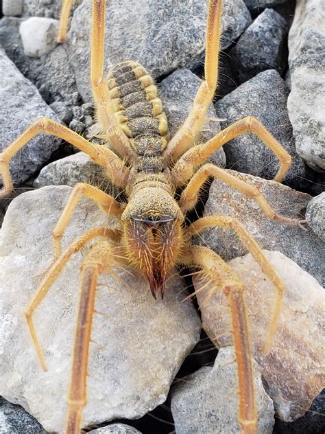
[[269,332],[267,334],[267,340],[264,347],[264,352],[265,354],[267,354],[271,350],[272,343],[274,341],[274,335],[276,333],[276,326],[278,324],[278,318],[280,315],[285,284],[282,282],[282,279],[278,277],[278,274],[265,257],[263,251],[261,250],[261,247],[258,246],[257,242],[250,235],[250,233],[248,233],[248,231],[246,231],[246,229],[235,218],[225,216],[207,216],[204,218],[200,218],[200,220],[197,220],[196,222],[193,222],[188,227],[188,231],[193,236],[197,233],[200,233],[203,229],[206,229],[206,227],[211,226],[234,229],[246,249],[248,249],[248,251],[252,254],[254,260],[256,260],[259,266],[261,266],[261,270],[263,271],[263,273],[267,275],[267,277],[269,277],[271,282],[276,287],[276,303],[274,306],[273,317],[269,325]]

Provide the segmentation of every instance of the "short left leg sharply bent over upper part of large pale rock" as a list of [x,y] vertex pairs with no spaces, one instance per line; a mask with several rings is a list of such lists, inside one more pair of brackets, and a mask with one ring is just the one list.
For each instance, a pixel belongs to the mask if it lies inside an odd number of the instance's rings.
[[93,201],[97,202],[101,209],[103,209],[108,214],[113,216],[121,216],[123,212],[123,204],[115,201],[115,198],[109,196],[108,194],[102,192],[97,187],[93,185],[88,185],[86,183],[77,183],[71,192],[67,205],[65,205],[62,214],[56,223],[56,227],[52,231],[53,247],[55,253],[55,259],[61,255],[61,240],[71,216],[80,201],[82,196],[91,198]]

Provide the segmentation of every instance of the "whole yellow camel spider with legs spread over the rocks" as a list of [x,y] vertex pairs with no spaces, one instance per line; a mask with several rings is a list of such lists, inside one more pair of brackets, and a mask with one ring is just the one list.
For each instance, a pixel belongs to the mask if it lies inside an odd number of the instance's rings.
[[[67,33],[71,3],[72,0],[64,0],[60,42],[64,41]],[[80,251],[90,240],[99,238],[84,257],[81,268],[81,296],[67,418],[67,433],[79,433],[82,409],[86,404],[88,345],[91,340],[99,275],[104,271],[109,272],[115,264],[128,264],[147,276],[154,297],[163,297],[165,280],[175,266],[196,266],[202,270],[204,279],[213,283],[214,290],[223,290],[228,296],[239,372],[239,423],[243,433],[256,433],[252,355],[243,284],[217,253],[193,244],[192,236],[214,225],[234,229],[263,272],[274,283],[276,301],[265,351],[271,347],[276,332],[284,285],[256,242],[231,216],[208,216],[189,226],[184,224],[184,219],[186,212],[195,206],[200,188],[206,179],[215,176],[254,198],[269,218],[299,225],[299,221],[276,214],[256,187],[237,179],[225,170],[208,163],[195,172],[195,168],[204,163],[215,150],[246,132],[258,135],[280,160],[276,181],[284,178],[291,157],[253,117],[246,117],[228,126],[206,144],[193,146],[197,134],[206,122],[208,104],[217,87],[216,53],[219,51],[221,0],[209,0],[205,79],[200,84],[186,121],[172,139],[169,139],[167,119],[157,88],[144,67],[133,61],[121,62],[110,71],[108,78],[103,77],[105,6],[105,0],[93,0],[91,83],[101,137],[104,137],[113,150],[105,145],[91,143],[51,119],[42,118],[29,126],[0,154],[0,172],[4,183],[0,196],[12,190],[8,165],[10,159],[29,139],[42,131],[56,135],[86,152],[93,161],[105,168],[108,177],[128,196],[127,203],[121,203],[86,183],[78,183],[73,188],[53,229],[55,260],[25,312],[40,364],[46,369],[32,315],[71,255]],[[180,194],[180,200],[176,201],[175,193],[180,187],[184,187],[184,190]],[[119,218],[122,229],[91,229],[62,253],[62,234],[82,196],[88,196],[96,201],[104,212]]]

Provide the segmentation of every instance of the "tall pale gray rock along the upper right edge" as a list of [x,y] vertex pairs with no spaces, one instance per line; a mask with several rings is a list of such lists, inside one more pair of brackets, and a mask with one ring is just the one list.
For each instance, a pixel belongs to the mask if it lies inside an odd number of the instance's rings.
[[298,154],[319,172],[325,170],[324,19],[321,0],[298,0],[289,32],[289,118]]

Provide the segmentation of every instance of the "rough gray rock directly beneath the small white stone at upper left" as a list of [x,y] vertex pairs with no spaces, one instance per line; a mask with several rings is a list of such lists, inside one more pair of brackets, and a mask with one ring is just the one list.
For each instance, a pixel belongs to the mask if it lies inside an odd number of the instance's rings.
[[[70,106],[80,104],[80,95],[77,93],[75,73],[68,58],[67,46],[58,45],[42,58],[29,58],[24,54],[19,36],[21,22],[21,19],[10,17],[0,21],[0,43],[8,57],[38,89],[46,89],[47,102],[64,101]],[[77,102],[75,102],[75,95],[78,98]]]

